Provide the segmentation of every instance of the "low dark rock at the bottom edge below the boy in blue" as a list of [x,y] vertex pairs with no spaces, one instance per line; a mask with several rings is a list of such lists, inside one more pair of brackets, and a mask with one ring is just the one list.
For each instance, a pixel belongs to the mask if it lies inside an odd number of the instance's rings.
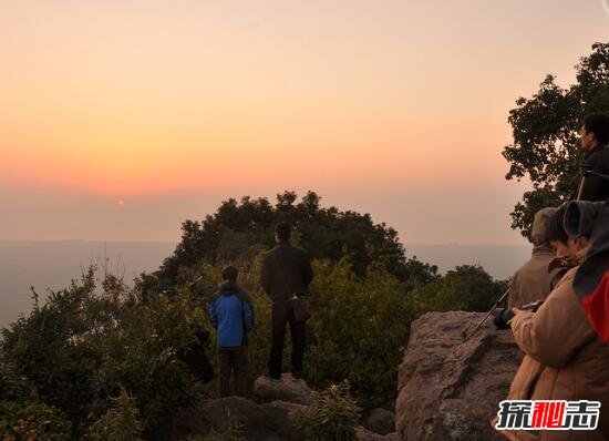
[[267,428],[264,409],[240,397],[206,400],[197,409],[180,413],[174,420],[172,439],[184,440],[194,434],[207,434],[211,429],[223,431],[230,423],[238,424],[247,440],[283,440]]

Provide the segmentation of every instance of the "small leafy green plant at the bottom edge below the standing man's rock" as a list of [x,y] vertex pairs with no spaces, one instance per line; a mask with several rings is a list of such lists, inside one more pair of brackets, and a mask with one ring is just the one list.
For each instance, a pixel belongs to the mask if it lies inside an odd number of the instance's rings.
[[349,393],[349,382],[343,381],[313,392],[311,406],[299,419],[307,441],[351,441],[355,440],[360,408]]

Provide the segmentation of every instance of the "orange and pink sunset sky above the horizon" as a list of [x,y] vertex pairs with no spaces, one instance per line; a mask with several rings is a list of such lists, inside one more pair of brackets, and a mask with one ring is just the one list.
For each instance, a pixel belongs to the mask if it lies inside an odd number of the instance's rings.
[[507,116],[600,0],[0,0],[0,239],[177,242],[308,189],[407,244],[523,244]]

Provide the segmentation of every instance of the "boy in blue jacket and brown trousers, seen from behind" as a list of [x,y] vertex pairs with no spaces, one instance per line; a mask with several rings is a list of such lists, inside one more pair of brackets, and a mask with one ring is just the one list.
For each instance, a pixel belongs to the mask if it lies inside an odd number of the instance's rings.
[[218,291],[211,297],[207,311],[218,335],[218,389],[220,397],[230,394],[230,372],[235,372],[235,394],[248,393],[247,332],[254,328],[254,308],[249,296],[237,284],[234,266],[223,269]]

